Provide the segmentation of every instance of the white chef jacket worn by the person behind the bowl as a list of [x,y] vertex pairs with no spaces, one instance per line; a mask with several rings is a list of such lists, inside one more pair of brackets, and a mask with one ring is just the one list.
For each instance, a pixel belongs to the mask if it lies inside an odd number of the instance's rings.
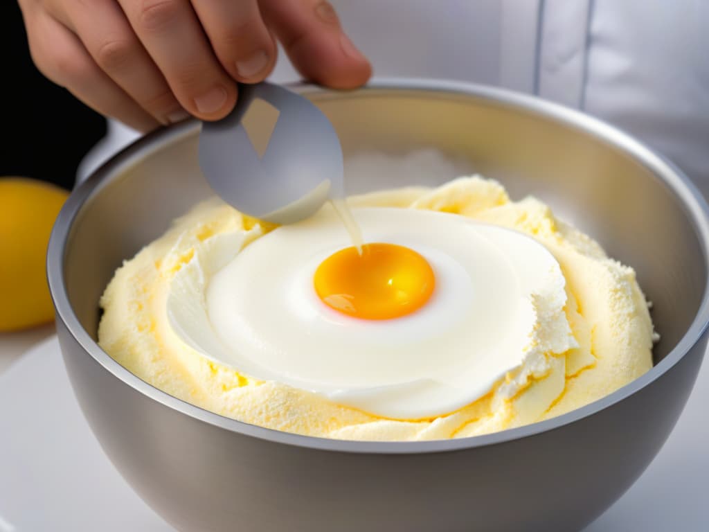
[[[709,196],[709,0],[330,0],[376,77],[535,94],[613,123]],[[284,54],[276,82],[298,79]],[[115,122],[80,176],[135,138]]]

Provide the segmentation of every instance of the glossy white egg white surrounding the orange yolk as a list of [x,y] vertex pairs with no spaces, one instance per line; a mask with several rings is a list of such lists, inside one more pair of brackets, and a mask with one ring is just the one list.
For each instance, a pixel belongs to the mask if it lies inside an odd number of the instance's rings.
[[354,217],[367,241],[405,245],[428,260],[436,287],[425,306],[369,321],[320,301],[316,268],[350,245],[334,211],[323,209],[233,257],[220,245],[193,259],[172,281],[172,326],[206,357],[252,377],[422,419],[471,403],[522,365],[534,299],[562,318],[559,265],[522,233],[433,211],[355,209]]

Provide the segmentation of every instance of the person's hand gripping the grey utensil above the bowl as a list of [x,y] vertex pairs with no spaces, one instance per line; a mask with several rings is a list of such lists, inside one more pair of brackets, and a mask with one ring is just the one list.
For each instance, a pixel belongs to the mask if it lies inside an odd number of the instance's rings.
[[40,72],[140,131],[223,118],[236,82],[262,81],[283,45],[307,79],[367,82],[372,68],[323,0],[18,0]]

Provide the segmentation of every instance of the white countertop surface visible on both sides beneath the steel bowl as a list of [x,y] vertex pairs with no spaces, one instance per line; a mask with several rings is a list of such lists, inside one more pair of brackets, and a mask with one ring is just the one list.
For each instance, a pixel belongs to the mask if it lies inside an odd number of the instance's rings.
[[[0,334],[0,532],[171,532],[91,434],[53,332]],[[707,404],[709,363],[657,458],[584,532],[709,530]]]

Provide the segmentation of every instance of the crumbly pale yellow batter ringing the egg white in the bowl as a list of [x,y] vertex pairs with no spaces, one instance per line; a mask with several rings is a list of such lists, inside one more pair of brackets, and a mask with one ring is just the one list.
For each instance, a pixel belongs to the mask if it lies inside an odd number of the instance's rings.
[[[654,331],[635,272],[608,258],[598,243],[559,221],[537,199],[513,202],[497,182],[464,177],[437,189],[357,196],[350,205],[446,211],[532,235],[562,268],[566,318],[579,348],[550,355],[542,369],[508,374],[485,397],[452,414],[413,421],[379,418],[279,382],[240,375],[186,345],[166,313],[172,277],[213,245],[215,235],[249,231],[248,238],[258,238],[271,229],[259,229],[257,221],[217,199],[179,218],[118,269],[101,299],[101,347],[146,382],[217,414],[281,431],[354,440],[459,438],[501,431],[584,406],[652,366]],[[542,338],[544,323],[540,328]]]

